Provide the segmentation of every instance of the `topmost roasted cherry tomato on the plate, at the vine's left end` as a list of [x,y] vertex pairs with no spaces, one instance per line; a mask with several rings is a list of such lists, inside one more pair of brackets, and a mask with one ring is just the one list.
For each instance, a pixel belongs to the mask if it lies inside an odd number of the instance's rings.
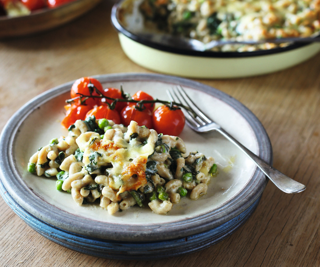
[[[82,77],[75,81],[75,83],[71,87],[71,98],[79,96],[77,93],[81,93],[83,95],[90,95],[90,91],[88,88],[88,84],[92,83],[100,92],[103,91],[102,85],[100,81],[91,78],[91,77]],[[99,95],[95,90],[93,90],[92,95]],[[99,105],[100,98],[89,98],[85,101],[88,106]]]

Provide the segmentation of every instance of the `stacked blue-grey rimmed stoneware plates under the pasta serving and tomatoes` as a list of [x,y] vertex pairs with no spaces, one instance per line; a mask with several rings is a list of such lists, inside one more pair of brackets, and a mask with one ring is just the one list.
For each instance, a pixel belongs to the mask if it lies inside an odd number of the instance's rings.
[[[166,89],[181,85],[231,135],[268,163],[272,161],[270,141],[259,120],[217,89],[156,74],[95,78],[105,88],[122,85],[130,94],[143,90],[159,99],[168,99]],[[219,175],[211,179],[206,195],[196,201],[182,199],[167,215],[155,214],[146,205],[110,216],[98,204],[78,206],[70,194],[55,189],[56,179],[28,173],[29,157],[39,147],[52,138],[67,135],[60,122],[72,83],[53,88],[24,105],[6,124],[0,138],[1,194],[36,231],[87,254],[147,259],[204,248],[228,236],[251,215],[266,186],[265,176],[220,134],[197,134],[188,126],[180,135],[187,150],[213,156]],[[136,243],[140,245],[137,247]]]

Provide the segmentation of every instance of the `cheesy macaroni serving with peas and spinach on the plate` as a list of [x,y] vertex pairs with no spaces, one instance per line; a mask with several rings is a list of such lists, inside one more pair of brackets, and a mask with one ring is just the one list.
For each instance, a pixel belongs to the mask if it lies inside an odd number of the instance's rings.
[[112,127],[102,135],[97,122],[77,120],[67,137],[52,140],[29,161],[37,175],[57,176],[57,189],[71,193],[78,205],[99,201],[113,214],[148,203],[166,214],[187,191],[191,199],[207,192],[212,157],[197,151],[186,156],[181,138],[134,121],[124,127],[109,120]]

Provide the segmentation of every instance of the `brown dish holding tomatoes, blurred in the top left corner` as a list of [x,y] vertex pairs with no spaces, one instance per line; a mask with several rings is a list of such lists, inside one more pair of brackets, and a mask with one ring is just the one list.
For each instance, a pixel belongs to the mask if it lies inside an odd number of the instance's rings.
[[42,32],[65,24],[95,7],[101,0],[76,0],[56,8],[42,8],[30,15],[0,16],[0,38]]

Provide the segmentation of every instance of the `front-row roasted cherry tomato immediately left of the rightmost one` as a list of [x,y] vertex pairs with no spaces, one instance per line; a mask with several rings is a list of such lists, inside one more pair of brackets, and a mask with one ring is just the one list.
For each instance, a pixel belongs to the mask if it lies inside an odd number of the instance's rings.
[[152,129],[152,112],[148,109],[139,111],[135,109],[135,105],[126,106],[121,111],[121,121],[125,126],[128,126],[132,120],[138,123],[139,126],[147,126]]

